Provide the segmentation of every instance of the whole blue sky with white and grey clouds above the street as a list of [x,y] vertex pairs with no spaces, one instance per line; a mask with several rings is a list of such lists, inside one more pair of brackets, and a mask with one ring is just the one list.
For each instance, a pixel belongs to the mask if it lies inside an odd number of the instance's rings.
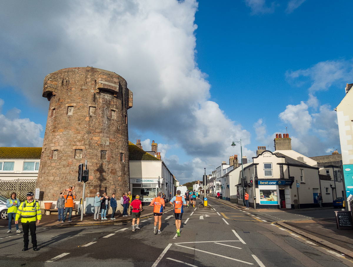
[[353,83],[352,1],[0,5],[0,146],[41,146],[44,77],[89,65],[127,80],[130,141],[155,140],[183,183],[240,156],[240,138],[247,158],[273,151],[286,126],[304,155],[340,152],[333,109]]

